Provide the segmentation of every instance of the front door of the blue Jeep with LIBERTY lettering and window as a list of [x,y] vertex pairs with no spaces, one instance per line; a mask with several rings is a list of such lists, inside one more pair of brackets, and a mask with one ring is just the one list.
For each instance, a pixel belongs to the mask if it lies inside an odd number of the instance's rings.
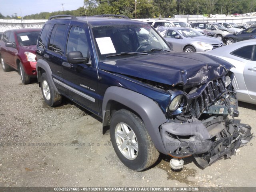
[[[86,25],[87,26],[87,25]],[[88,26],[71,25],[66,43],[66,54],[62,57],[63,88],[66,95],[72,100],[84,106],[88,110],[99,114],[97,70],[92,64],[90,54],[91,43],[88,34]],[[71,51],[80,51],[83,57],[88,57],[89,62],[83,64],[71,64],[67,54]]]

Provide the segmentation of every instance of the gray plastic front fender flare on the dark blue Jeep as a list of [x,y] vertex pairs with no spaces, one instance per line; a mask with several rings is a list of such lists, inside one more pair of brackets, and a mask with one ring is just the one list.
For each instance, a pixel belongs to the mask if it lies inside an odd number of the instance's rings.
[[138,113],[146,125],[146,129],[148,130],[156,149],[163,154],[168,154],[164,148],[158,129],[159,126],[167,122],[167,120],[156,102],[132,90],[117,86],[109,87],[104,94],[102,104],[103,126],[108,125],[107,119],[109,118],[108,114],[110,111],[111,100],[119,102]]

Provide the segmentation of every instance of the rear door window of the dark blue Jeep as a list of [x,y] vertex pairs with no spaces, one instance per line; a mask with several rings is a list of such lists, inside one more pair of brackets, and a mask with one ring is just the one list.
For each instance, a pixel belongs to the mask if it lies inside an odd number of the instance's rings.
[[50,42],[48,46],[48,50],[56,52],[58,54],[62,53],[62,45],[63,45],[63,36],[65,35],[67,26],[64,24],[56,24],[52,30],[52,34],[50,36]]

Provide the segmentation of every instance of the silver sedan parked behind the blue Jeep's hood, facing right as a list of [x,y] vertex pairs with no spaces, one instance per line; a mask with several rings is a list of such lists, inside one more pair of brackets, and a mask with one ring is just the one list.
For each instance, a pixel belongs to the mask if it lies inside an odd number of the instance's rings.
[[157,31],[168,43],[172,43],[172,49],[174,51],[202,52],[223,46],[221,40],[203,35],[190,28],[158,27]]

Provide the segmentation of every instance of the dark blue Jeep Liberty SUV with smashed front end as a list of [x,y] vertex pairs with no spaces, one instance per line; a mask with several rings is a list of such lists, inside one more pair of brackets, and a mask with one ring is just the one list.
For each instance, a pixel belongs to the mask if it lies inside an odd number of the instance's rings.
[[62,96],[102,118],[130,169],[152,166],[159,152],[174,169],[194,156],[202,167],[251,138],[239,124],[228,62],[172,52],[144,22],[125,16],[51,17],[36,50],[39,86],[49,106]]

